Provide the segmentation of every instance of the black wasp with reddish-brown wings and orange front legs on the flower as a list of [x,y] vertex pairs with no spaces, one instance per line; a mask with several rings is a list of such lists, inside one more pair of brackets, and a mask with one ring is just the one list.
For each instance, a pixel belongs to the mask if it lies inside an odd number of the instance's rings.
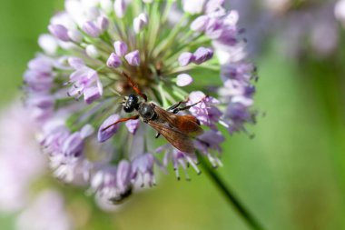
[[[133,111],[136,111],[138,114],[131,117],[122,118],[112,125],[105,127],[103,130],[122,122],[141,118],[144,123],[153,127],[153,129],[157,132],[156,138],[158,138],[160,135],[163,135],[163,137],[170,144],[183,153],[194,153],[194,145],[192,141],[198,135],[202,135],[203,133],[200,121],[193,115],[177,114],[199,104],[201,101],[193,105],[180,107],[182,104],[188,102],[187,99],[187,101],[178,102],[168,109],[163,109],[153,102],[148,102],[147,95],[140,91],[138,85],[134,83],[133,79],[124,72],[123,75],[127,78],[129,85],[132,86],[133,90],[137,94],[128,95],[125,97],[125,101],[122,103],[123,111],[125,113],[133,113]],[[140,97],[143,99],[143,101],[140,101]]]

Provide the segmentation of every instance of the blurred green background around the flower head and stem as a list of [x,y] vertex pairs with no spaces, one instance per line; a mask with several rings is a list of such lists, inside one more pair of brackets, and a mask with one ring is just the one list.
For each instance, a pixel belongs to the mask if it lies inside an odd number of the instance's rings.
[[[0,3],[0,103],[5,107],[20,95],[26,63],[39,49],[37,37],[63,3]],[[255,138],[228,136],[224,166],[217,172],[267,229],[345,229],[345,40],[340,36],[337,54],[326,59],[312,53],[303,60],[284,57],[271,37],[255,60],[261,111],[258,124],[250,127]],[[111,214],[86,208],[93,199],[82,190],[60,186],[70,197],[68,205],[84,207],[74,210],[76,219],[85,212],[92,216],[78,229],[250,229],[206,175],[192,170],[190,175],[191,182],[176,181],[173,172],[163,175],[157,187]],[[71,198],[74,193],[79,196]],[[0,229],[13,229],[12,218],[0,221]]]

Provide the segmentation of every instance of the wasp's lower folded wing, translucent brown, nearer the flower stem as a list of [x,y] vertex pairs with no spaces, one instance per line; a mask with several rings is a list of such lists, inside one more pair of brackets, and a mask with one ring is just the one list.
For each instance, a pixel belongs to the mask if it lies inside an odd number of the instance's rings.
[[148,121],[148,124],[151,125],[158,133],[163,135],[165,139],[178,150],[187,154],[194,153],[194,145],[190,136],[183,134],[164,123],[150,120]]

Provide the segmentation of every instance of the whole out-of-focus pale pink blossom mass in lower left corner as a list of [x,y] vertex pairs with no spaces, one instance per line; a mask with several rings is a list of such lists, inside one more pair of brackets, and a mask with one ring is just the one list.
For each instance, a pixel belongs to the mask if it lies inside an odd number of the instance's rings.
[[53,186],[41,185],[46,159],[39,153],[36,127],[28,122],[26,113],[18,102],[1,112],[0,215],[12,215],[15,229],[73,229],[64,196]]

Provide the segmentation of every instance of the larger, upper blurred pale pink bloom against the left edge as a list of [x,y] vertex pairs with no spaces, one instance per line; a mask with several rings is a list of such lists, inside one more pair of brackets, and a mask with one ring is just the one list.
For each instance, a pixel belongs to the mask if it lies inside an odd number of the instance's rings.
[[30,111],[15,102],[0,115],[0,212],[12,214],[30,200],[31,186],[45,175],[45,160],[34,138],[36,125]]

